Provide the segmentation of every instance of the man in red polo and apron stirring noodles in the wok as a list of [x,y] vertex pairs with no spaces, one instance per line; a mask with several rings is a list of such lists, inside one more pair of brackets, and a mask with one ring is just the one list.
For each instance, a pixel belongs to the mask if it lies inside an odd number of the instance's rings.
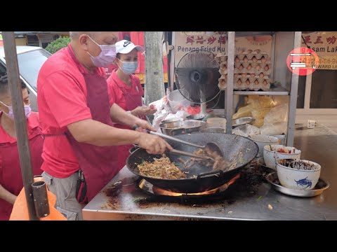
[[42,176],[68,220],[117,174],[117,146],[137,144],[164,153],[163,139],[112,127],[116,123],[154,130],[145,120],[110,108],[103,67],[116,57],[117,32],[71,31],[72,41],[49,57],[37,80],[39,116],[45,136]]

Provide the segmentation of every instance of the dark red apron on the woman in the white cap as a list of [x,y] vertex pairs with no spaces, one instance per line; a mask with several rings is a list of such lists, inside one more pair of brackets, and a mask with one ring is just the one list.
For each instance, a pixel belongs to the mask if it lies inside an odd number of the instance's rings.
[[[114,80],[114,78],[112,78],[112,79]],[[116,85],[119,87],[119,89],[121,90],[121,92],[124,95],[125,104],[126,104],[126,111],[133,111],[133,109],[136,109],[138,106],[143,105],[143,100],[142,100],[141,94],[129,94],[128,91],[126,91],[125,87],[121,87],[120,85],[118,85],[116,80],[114,80],[114,83],[116,83]],[[138,87],[138,83],[135,83],[135,84],[136,84],[136,87]],[[141,118],[143,120],[146,120],[145,116],[139,116],[139,118]],[[117,125],[117,127],[119,127],[119,125]],[[120,128],[131,130],[130,127],[126,127],[124,125],[121,125]],[[130,155],[128,150],[130,150],[133,147],[134,147],[133,145],[118,146],[118,167],[117,167],[118,170],[121,170],[125,166],[126,159]]]

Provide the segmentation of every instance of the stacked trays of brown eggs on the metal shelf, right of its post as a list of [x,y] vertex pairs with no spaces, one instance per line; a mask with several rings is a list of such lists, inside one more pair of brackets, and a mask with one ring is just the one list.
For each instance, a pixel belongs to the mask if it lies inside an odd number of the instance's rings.
[[246,50],[234,55],[234,90],[270,90],[271,62],[267,52]]

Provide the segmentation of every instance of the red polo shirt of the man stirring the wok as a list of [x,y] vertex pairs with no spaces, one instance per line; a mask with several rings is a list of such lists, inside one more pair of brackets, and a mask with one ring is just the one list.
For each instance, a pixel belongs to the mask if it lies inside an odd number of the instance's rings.
[[[72,50],[71,45],[68,48]],[[67,125],[92,118],[86,105],[86,82],[82,73],[88,71],[81,64],[77,66],[67,48],[55,52],[39,71],[40,125],[43,134],[54,135],[45,137],[41,169],[56,178],[66,178],[79,169],[72,146],[64,135]],[[97,68],[95,73],[105,76],[102,68]]]

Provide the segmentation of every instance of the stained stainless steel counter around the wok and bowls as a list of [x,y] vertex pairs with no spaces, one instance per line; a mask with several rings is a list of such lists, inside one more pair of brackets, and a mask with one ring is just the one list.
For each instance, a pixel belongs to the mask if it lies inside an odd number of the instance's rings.
[[[322,165],[321,177],[330,187],[316,197],[299,198],[277,193],[267,183],[249,197],[207,204],[149,200],[126,167],[83,209],[84,220],[337,220],[337,134],[324,125],[307,129],[296,125],[294,146],[301,158]],[[119,190],[105,193],[114,183]]]

